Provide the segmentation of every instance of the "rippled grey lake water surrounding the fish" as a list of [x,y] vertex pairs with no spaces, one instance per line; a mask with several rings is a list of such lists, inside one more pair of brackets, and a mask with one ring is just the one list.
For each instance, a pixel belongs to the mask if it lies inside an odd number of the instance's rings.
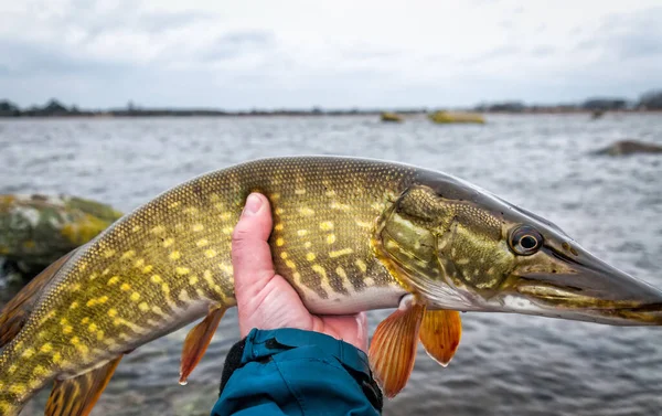
[[[484,126],[375,117],[0,121],[0,193],[67,193],[128,212],[203,172],[254,158],[350,154],[461,177],[541,214],[608,263],[662,287],[662,157],[590,151],[615,140],[662,143],[662,115],[489,116]],[[7,289],[6,289],[7,290]],[[7,295],[7,294],[4,294]],[[388,311],[369,314],[371,329]],[[419,350],[385,415],[661,415],[662,329],[465,313],[441,369]],[[180,386],[186,330],[120,363],[93,415],[209,415],[236,312]],[[42,415],[44,391],[23,415]]]

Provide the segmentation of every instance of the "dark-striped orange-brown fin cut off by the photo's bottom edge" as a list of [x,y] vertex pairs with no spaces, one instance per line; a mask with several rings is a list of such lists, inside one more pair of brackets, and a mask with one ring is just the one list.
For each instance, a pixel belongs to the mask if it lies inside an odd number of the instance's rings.
[[108,385],[121,355],[76,377],[55,381],[44,416],[87,416]]

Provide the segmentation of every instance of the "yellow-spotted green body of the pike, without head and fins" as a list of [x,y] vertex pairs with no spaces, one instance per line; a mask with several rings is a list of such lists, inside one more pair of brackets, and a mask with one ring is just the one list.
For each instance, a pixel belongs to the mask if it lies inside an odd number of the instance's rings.
[[319,313],[393,307],[403,288],[371,247],[375,223],[417,169],[373,160],[257,160],[183,183],[78,249],[0,354],[0,414],[53,380],[84,374],[235,306],[231,244],[245,199],[271,203],[277,273]]

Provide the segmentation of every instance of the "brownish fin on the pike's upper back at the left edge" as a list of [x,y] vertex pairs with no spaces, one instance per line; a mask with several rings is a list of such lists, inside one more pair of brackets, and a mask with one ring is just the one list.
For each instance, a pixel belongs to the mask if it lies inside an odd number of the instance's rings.
[[71,250],[43,269],[0,310],[0,346],[7,344],[21,331],[42,289],[75,252],[76,249]]

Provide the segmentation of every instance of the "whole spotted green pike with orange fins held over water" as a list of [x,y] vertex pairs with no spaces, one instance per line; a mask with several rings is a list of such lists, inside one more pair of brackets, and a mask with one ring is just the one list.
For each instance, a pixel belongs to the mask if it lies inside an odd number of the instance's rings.
[[192,179],[52,264],[0,312],[0,414],[54,382],[46,415],[87,415],[124,354],[204,318],[184,383],[234,298],[233,227],[250,192],[271,204],[276,271],[320,314],[397,308],[369,355],[389,397],[420,341],[447,364],[458,311],[662,323],[662,292],[557,226],[463,180],[388,161],[291,157]]

